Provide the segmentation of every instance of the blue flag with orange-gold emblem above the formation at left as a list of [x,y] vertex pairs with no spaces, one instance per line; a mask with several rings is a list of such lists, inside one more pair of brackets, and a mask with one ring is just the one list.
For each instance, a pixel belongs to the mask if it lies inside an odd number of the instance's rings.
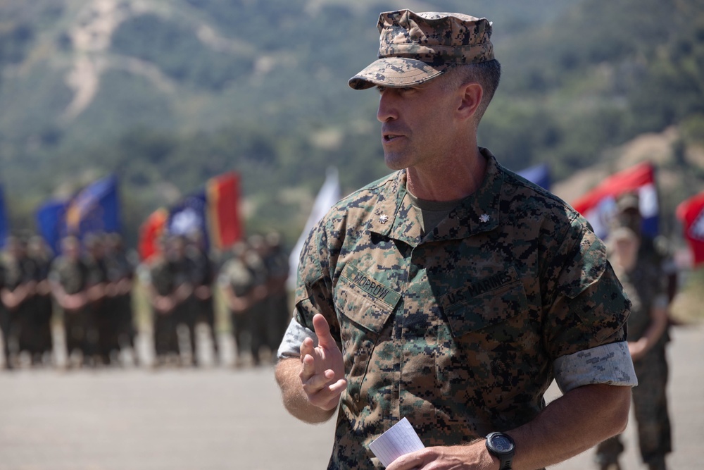
[[81,239],[88,233],[119,233],[117,178],[108,176],[84,187],[68,204],[65,220],[68,233]]

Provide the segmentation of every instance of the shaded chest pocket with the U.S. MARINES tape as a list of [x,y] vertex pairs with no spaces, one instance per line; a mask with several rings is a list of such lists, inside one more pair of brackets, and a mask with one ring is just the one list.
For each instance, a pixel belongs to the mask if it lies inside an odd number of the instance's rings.
[[[515,268],[511,266],[508,271],[448,292],[441,297],[441,304],[453,337],[460,338],[467,333],[501,324],[525,312],[528,300],[523,283]],[[501,328],[501,331],[504,335],[511,336],[506,328]]]

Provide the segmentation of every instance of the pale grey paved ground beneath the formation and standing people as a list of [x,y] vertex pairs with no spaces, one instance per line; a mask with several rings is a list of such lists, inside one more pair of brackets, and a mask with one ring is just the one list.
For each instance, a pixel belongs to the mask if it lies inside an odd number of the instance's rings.
[[[704,326],[673,335],[669,462],[700,469]],[[624,470],[643,468],[633,431]],[[284,411],[271,366],[0,373],[0,470],[324,469],[331,443],[332,423]],[[553,468],[592,469],[591,452]]]

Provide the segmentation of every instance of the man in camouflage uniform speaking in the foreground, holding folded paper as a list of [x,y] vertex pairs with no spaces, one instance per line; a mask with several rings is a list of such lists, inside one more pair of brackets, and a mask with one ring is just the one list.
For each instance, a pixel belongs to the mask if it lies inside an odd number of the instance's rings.
[[[427,447],[388,470],[539,469],[620,433],[629,301],[605,247],[477,145],[501,70],[491,23],[397,11],[379,31],[379,60],[349,85],[377,86],[396,173],[308,237],[279,347],[284,405],[311,422],[339,410],[329,469],[382,468],[370,443],[404,417]],[[546,406],[553,378],[565,395]],[[490,452],[497,431],[515,454]]]

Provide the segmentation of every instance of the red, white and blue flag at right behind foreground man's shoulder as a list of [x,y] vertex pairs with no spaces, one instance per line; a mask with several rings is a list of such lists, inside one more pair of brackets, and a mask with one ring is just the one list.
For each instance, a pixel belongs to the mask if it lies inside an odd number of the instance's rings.
[[605,238],[611,218],[616,213],[616,199],[628,192],[639,196],[645,235],[658,235],[658,190],[655,187],[655,167],[650,162],[639,163],[611,175],[593,190],[572,203],[572,207],[591,223],[596,235]]

